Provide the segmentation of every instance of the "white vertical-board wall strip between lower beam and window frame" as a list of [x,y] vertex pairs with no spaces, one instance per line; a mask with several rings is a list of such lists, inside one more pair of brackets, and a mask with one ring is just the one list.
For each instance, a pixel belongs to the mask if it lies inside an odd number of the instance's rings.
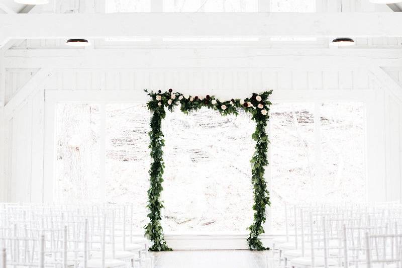
[[336,90],[368,89],[367,70],[178,69],[178,70],[62,70],[53,72],[45,90]]

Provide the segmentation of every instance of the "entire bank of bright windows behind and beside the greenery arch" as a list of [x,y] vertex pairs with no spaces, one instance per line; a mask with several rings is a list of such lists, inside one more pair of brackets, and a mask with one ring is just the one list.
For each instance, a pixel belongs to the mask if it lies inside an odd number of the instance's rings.
[[[286,203],[365,201],[363,111],[361,103],[272,105],[266,177],[273,231],[284,226]],[[56,201],[134,203],[141,233],[147,222],[149,120],[143,104],[59,104]],[[247,233],[254,128],[243,111],[237,117],[206,108],[166,114],[166,233]]]

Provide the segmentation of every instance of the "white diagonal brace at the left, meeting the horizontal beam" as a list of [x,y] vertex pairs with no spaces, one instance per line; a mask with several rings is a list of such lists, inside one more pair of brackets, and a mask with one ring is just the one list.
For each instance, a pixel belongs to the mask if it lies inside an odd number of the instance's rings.
[[20,90],[14,95],[14,97],[6,104],[4,107],[4,112],[6,115],[10,115],[13,113],[15,109],[21,106],[28,97],[33,95],[38,87],[44,82],[46,77],[52,72],[51,68],[42,68],[36,72],[32,78],[23,85]]

